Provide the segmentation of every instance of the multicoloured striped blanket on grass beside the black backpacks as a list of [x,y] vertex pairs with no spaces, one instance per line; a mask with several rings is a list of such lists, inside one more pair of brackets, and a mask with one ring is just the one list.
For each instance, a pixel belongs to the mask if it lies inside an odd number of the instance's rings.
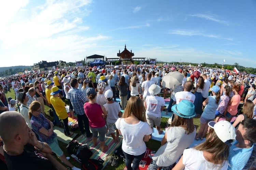
[[122,144],[123,142],[123,137],[119,135],[119,142],[114,143],[113,138],[111,137],[111,134],[105,137],[105,144],[108,145],[108,149],[103,153],[101,152],[100,149],[100,141],[99,137],[97,137],[97,143],[96,146],[93,146],[93,140],[91,138],[86,138],[85,136],[81,135],[76,139],[77,142],[82,143],[82,144],[88,144],[90,146],[90,150],[93,152],[93,155],[91,155],[90,159],[99,159],[101,158],[104,160],[103,163],[103,169],[105,166],[108,164],[108,160],[110,155],[112,155],[115,150]]

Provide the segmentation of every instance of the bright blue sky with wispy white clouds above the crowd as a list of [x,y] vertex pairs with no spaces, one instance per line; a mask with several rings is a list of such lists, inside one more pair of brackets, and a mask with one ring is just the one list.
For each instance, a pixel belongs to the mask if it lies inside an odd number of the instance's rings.
[[0,67],[94,54],[256,68],[254,0],[0,1]]

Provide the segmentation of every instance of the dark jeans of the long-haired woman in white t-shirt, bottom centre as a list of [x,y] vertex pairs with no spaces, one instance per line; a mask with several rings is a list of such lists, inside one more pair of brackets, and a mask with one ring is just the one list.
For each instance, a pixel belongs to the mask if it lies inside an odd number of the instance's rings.
[[[124,151],[123,153],[125,155],[125,166],[127,167],[127,170],[137,170],[139,168],[141,159],[145,155],[145,152],[137,156],[130,155],[128,153],[125,153]],[[132,161],[132,157],[133,157],[133,161]],[[132,167],[131,167],[131,163],[132,163]]]

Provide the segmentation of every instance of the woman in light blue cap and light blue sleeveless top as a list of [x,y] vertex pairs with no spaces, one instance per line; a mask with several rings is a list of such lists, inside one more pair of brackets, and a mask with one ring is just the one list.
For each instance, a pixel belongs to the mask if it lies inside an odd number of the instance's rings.
[[219,104],[221,103],[221,91],[219,87],[213,86],[210,88],[212,91],[213,96],[209,96],[203,102],[203,106],[205,106],[203,113],[200,117],[200,129],[196,136],[196,140],[200,138],[203,140],[203,137],[207,134],[208,131],[208,122],[212,121],[215,118],[215,112],[218,108]]

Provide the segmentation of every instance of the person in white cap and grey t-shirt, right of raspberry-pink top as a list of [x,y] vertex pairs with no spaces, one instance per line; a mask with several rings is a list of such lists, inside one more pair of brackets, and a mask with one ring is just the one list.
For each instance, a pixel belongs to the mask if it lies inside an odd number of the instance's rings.
[[[113,101],[112,90],[107,90],[104,95],[105,95],[105,98],[108,100],[108,102],[103,105],[107,112],[107,117],[106,117],[107,126],[109,128],[109,132],[111,133],[112,138],[114,139],[114,142],[117,143],[119,141],[119,132],[116,129],[115,123],[117,119],[121,116],[121,107],[117,102]],[[116,130],[116,136],[115,136],[115,130]]]

